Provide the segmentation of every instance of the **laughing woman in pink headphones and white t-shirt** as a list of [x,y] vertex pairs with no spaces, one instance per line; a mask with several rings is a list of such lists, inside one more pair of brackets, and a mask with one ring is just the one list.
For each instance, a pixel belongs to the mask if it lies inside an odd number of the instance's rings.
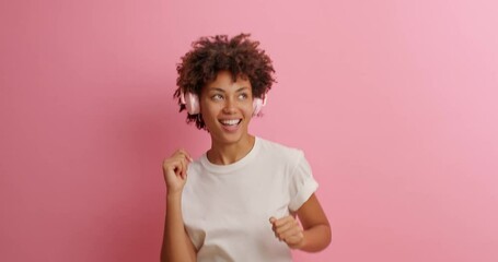
[[202,37],[177,67],[181,111],[209,132],[211,148],[163,162],[162,261],[291,261],[290,249],[331,242],[304,154],[247,132],[275,82],[271,60],[248,36]]

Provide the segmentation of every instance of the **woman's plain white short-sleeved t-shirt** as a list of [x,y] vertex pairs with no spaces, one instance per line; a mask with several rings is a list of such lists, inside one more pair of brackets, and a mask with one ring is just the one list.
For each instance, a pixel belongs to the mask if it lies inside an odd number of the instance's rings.
[[269,218],[297,211],[319,184],[302,151],[256,138],[230,165],[206,154],[188,166],[182,212],[197,261],[291,261]]

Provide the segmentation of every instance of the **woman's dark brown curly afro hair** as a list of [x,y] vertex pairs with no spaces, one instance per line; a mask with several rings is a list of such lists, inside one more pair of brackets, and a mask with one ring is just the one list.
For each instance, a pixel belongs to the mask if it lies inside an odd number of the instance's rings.
[[[201,88],[215,81],[220,71],[229,71],[233,81],[236,78],[248,79],[254,97],[262,98],[271,88],[271,84],[276,83],[271,59],[258,48],[259,41],[251,40],[250,36],[240,34],[229,38],[216,35],[200,37],[192,44],[193,49],[176,66],[178,88],[173,97],[177,98],[179,111],[186,109],[179,100],[181,91],[200,97]],[[198,129],[206,128],[202,118],[197,115],[187,114],[187,122],[195,122]]]

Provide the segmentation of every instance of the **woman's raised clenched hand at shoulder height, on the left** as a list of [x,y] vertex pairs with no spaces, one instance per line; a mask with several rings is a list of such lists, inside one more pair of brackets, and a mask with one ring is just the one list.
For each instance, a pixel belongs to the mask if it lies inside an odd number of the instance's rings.
[[193,162],[190,155],[184,151],[176,151],[163,162],[163,175],[167,193],[181,193],[187,181],[188,164]]

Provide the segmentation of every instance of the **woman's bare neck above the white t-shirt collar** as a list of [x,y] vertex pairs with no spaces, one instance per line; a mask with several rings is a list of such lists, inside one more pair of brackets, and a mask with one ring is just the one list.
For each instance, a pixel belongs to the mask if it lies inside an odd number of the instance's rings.
[[254,135],[247,134],[235,143],[223,144],[211,140],[211,148],[206,156],[209,162],[216,165],[230,165],[246,156],[255,143]]

